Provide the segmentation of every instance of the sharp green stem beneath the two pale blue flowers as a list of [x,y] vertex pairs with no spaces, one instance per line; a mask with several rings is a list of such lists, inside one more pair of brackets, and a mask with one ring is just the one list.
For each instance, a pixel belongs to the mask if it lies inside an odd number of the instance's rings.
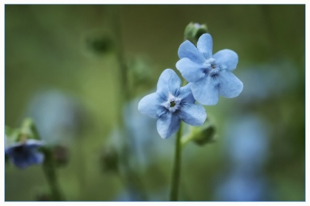
[[178,201],[178,186],[180,183],[180,168],[181,168],[181,136],[182,136],[182,122],[180,128],[176,133],[176,149],[174,153],[174,168],[172,170],[172,185],[170,192],[170,201]]

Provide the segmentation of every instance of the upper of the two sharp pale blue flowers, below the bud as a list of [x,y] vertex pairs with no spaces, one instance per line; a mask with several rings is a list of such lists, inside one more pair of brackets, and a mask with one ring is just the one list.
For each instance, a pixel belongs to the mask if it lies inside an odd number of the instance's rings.
[[242,82],[231,71],[236,69],[238,55],[230,49],[223,49],[212,55],[212,37],[203,34],[197,47],[185,41],[178,48],[180,60],[176,68],[183,78],[192,82],[192,93],[200,104],[214,105],[218,95],[236,98],[242,89]]

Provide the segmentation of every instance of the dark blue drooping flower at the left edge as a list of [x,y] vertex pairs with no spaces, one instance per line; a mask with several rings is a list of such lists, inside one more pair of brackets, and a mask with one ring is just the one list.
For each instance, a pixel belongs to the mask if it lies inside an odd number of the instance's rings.
[[37,151],[42,145],[42,141],[36,139],[17,142],[6,148],[6,155],[18,168],[27,168],[32,164],[43,163],[44,155]]

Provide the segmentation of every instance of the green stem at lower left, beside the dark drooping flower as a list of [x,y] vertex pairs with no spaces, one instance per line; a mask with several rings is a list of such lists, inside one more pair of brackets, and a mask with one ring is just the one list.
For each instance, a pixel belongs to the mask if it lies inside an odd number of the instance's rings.
[[44,154],[45,154],[45,160],[43,163],[43,171],[46,179],[48,180],[48,184],[50,185],[52,201],[63,201],[63,195],[59,190],[59,183],[57,181],[56,171],[54,168],[52,152],[46,149]]

